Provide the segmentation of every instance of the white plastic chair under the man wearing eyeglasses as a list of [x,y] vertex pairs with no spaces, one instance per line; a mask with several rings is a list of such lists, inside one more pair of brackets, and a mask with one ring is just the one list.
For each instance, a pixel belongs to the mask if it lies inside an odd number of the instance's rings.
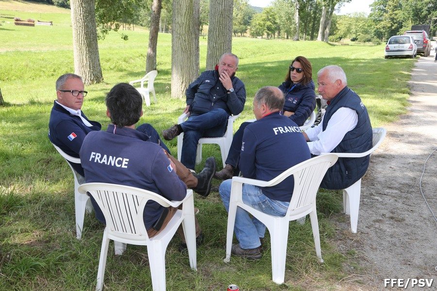
[[[61,156],[69,162],[73,163],[81,163],[80,158],[74,158],[72,156],[67,155],[59,146],[56,146],[52,143],[52,145],[56,148],[56,150],[61,154]],[[76,238],[78,240],[82,239],[82,229],[84,227],[84,217],[85,211],[87,213],[91,213],[93,210],[93,205],[91,204],[91,199],[89,199],[88,195],[80,194],[78,191],[79,185],[84,182],[84,178],[74,170],[71,164],[67,162],[70,166],[71,171],[73,171],[74,177],[74,212],[76,216]]]

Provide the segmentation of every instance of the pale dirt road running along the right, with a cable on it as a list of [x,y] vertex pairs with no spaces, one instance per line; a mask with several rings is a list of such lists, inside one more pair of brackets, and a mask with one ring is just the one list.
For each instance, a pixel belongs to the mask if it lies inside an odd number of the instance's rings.
[[[338,247],[357,251],[364,269],[346,268],[342,282],[349,290],[398,290],[384,279],[434,279],[437,290],[437,223],[420,191],[424,162],[437,148],[437,63],[434,54],[420,57],[410,81],[408,113],[385,126],[387,136],[370,158],[361,184],[358,232],[351,234],[349,217],[338,215]],[[421,188],[437,216],[437,150],[426,162]],[[404,283],[405,283],[404,281]],[[357,286],[351,285],[358,283]]]

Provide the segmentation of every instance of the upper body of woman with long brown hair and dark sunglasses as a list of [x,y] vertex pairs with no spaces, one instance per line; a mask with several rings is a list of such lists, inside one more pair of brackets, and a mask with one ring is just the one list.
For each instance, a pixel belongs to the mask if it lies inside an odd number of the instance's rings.
[[283,114],[303,126],[316,107],[316,93],[311,63],[307,58],[296,57],[288,68],[285,81],[279,86],[285,95]]

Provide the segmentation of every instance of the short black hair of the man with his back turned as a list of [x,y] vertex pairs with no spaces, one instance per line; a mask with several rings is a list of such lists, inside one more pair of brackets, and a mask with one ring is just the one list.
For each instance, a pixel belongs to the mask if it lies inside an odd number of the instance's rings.
[[105,98],[111,122],[119,127],[131,126],[138,122],[143,108],[143,99],[128,83],[118,83]]

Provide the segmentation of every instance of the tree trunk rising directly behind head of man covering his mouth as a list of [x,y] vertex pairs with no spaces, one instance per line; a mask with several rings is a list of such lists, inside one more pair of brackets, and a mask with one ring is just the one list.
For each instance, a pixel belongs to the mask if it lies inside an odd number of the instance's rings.
[[232,52],[233,6],[234,0],[209,1],[207,70],[214,69],[222,54]]

